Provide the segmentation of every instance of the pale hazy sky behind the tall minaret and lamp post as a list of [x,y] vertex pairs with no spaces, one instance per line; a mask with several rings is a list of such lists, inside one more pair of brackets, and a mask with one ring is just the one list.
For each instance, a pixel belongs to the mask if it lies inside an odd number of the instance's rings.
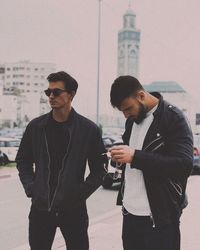
[[[117,74],[117,32],[128,0],[102,1],[101,113]],[[200,1],[133,0],[140,81],[179,82],[200,95]],[[95,112],[98,0],[0,0],[0,62],[54,62],[79,82],[75,106]],[[200,101],[199,101],[200,102]]]

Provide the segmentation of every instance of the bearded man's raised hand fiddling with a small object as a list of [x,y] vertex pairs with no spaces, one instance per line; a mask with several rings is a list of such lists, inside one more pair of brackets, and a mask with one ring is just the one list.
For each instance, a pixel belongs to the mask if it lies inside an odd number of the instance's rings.
[[114,146],[109,152],[112,161],[119,163],[131,163],[135,154],[135,150],[126,145]]

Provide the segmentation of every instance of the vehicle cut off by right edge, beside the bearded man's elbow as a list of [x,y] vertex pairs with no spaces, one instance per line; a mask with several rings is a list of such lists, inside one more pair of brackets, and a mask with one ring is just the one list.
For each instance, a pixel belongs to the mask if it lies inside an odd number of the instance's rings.
[[194,160],[192,174],[200,174],[200,134],[193,135],[194,138]]

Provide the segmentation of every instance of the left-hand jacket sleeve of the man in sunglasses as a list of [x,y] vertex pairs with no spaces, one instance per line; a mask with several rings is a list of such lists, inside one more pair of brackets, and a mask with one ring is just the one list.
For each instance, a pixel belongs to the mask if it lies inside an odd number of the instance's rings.
[[17,162],[17,169],[19,171],[19,177],[21,183],[28,197],[32,196],[32,185],[34,182],[34,170],[33,170],[34,159],[33,159],[31,136],[32,136],[31,126],[29,124],[24,132],[15,159]]

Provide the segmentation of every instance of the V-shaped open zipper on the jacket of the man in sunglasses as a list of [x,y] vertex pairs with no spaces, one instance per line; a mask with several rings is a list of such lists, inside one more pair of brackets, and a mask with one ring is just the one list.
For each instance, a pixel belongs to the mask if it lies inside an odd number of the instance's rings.
[[[45,138],[46,138],[46,135],[45,135]],[[49,190],[48,190],[48,211],[49,211],[49,212],[51,211],[51,208],[52,208],[52,205],[53,205],[53,202],[54,202],[54,199],[55,199],[55,197],[56,197],[57,190],[58,190],[58,186],[59,186],[59,184],[60,184],[60,174],[61,174],[61,172],[62,172],[62,170],[63,170],[63,168],[64,168],[64,161],[65,161],[65,158],[67,157],[68,152],[69,152],[70,141],[71,141],[71,136],[70,136],[70,133],[69,133],[69,143],[68,143],[68,147],[67,147],[67,152],[66,152],[66,154],[64,155],[63,160],[62,160],[62,168],[61,168],[61,170],[59,171],[59,175],[58,175],[58,184],[57,184],[57,186],[56,186],[56,189],[55,189],[55,192],[54,192],[53,199],[52,199],[51,203],[50,203],[50,200],[49,200],[49,195],[50,195],[49,180],[50,180],[50,172],[51,172],[50,167],[49,167],[49,178],[48,178],[48,187],[49,187]],[[47,145],[47,152],[48,152],[48,154],[49,154],[47,139],[46,139],[46,145]],[[50,154],[49,154],[49,159],[50,159]],[[49,163],[50,163],[50,160],[49,160]],[[50,164],[49,164],[48,166],[50,166]]]

